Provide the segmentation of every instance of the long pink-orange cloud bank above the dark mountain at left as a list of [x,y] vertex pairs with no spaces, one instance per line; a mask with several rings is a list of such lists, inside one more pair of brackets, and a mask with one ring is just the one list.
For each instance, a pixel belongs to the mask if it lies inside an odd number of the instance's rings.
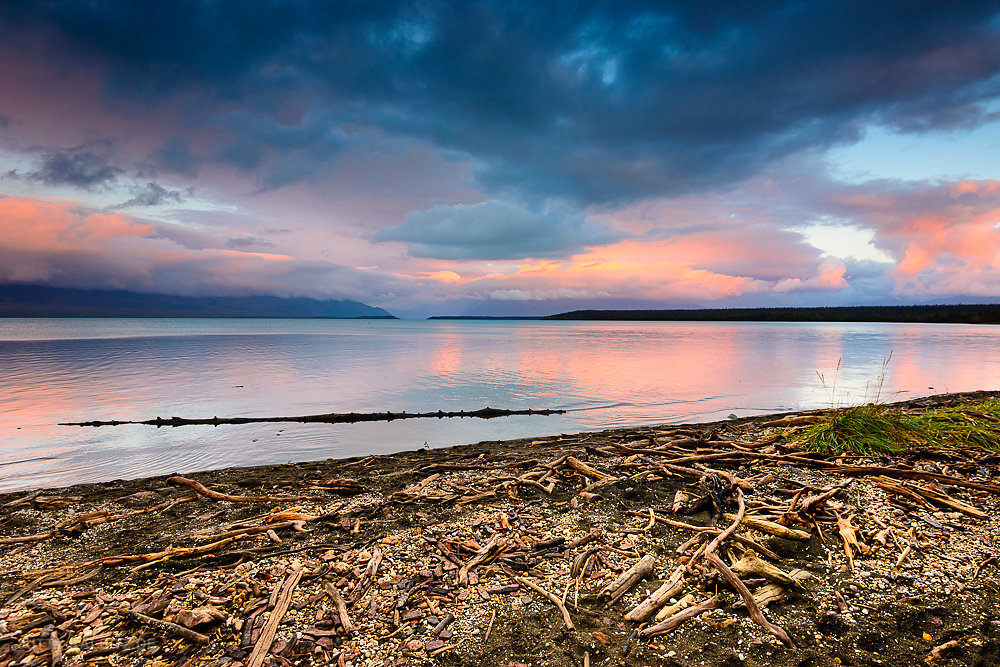
[[408,281],[332,262],[220,247],[187,248],[124,213],[0,198],[0,283],[185,295],[412,298]]

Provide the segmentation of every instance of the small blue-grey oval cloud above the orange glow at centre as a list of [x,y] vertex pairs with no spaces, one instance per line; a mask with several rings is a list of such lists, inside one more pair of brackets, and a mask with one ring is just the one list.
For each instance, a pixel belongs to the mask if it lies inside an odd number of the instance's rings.
[[375,240],[406,243],[414,257],[496,260],[566,257],[623,237],[575,210],[535,211],[492,200],[411,211],[403,224],[383,229]]

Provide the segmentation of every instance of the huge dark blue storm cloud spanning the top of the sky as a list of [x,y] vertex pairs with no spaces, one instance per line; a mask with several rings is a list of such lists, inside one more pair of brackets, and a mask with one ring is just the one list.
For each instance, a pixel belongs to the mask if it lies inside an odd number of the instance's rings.
[[[111,100],[197,100],[185,122],[228,135],[209,159],[264,189],[328,169],[336,128],[362,123],[470,156],[495,193],[620,203],[739,180],[867,123],[982,122],[1000,94],[997,10],[25,1],[0,6],[0,42],[103,72]],[[165,169],[196,167],[182,138],[158,155]]]

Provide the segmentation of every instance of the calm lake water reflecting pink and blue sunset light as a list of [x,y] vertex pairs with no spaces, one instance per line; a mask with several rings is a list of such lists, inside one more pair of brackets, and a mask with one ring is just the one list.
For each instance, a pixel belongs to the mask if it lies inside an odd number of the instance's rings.
[[[883,400],[995,389],[998,350],[966,325],[0,320],[0,490],[846,404],[890,353]],[[57,426],[486,405],[569,412]]]

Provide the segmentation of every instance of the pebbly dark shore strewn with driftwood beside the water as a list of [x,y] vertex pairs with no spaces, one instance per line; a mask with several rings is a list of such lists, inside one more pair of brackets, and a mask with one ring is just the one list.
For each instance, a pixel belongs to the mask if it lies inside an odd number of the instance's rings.
[[[0,496],[0,667],[1000,664],[1000,457],[807,455],[794,416]],[[740,575],[784,596],[763,614],[792,646],[698,553],[740,491],[765,523],[717,553],[801,571]],[[671,575],[667,606],[719,608],[643,636],[657,621],[625,615]]]

